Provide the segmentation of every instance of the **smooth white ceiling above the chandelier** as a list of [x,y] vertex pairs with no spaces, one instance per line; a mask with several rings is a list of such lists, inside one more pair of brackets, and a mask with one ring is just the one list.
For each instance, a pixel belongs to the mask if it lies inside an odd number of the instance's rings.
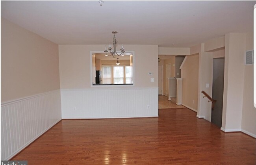
[[1,17],[56,44],[191,47],[252,32],[256,1],[1,1]]

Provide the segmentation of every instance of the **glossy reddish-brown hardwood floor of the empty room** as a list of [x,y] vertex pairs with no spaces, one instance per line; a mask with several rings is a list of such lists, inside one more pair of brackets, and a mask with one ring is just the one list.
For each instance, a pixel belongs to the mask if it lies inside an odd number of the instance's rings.
[[29,165],[256,164],[256,139],[224,133],[196,113],[157,118],[62,120],[13,160]]

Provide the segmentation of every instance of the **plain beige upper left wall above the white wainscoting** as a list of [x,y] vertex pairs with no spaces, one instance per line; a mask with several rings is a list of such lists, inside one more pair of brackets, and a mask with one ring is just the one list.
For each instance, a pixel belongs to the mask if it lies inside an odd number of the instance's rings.
[[1,102],[55,89],[58,45],[1,18]]

